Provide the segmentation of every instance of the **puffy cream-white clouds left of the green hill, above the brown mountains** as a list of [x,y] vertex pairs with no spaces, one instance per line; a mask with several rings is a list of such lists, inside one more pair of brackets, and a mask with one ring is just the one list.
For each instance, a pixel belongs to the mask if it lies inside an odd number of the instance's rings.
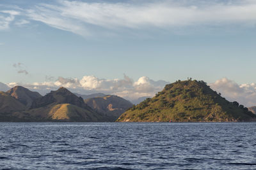
[[145,76],[134,82],[131,78],[124,75],[123,79],[113,80],[100,79],[95,76],[83,76],[81,80],[77,78],[59,77],[56,81],[35,82],[31,84],[9,83],[8,85],[10,87],[22,85],[28,89],[36,90],[43,95],[50,90],[66,87],[72,92],[79,94],[102,92],[104,94],[115,94],[133,101],[139,97],[153,97],[157,92],[161,91],[167,83],[167,81],[163,80],[154,81]]

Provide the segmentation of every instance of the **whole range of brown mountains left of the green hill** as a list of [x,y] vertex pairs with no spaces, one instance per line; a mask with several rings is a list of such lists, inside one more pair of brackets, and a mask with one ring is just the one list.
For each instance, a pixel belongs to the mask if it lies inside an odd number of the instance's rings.
[[132,106],[128,101],[125,106],[125,100],[117,96],[113,96],[115,103],[111,105],[112,96],[107,96],[102,97],[100,103],[100,97],[92,98],[92,101],[97,101],[97,108],[93,108],[89,106],[90,99],[86,99],[89,103],[86,104],[83,98],[78,96],[64,87],[45,96],[21,86],[13,87],[7,92],[0,92],[0,122],[115,122],[116,118]]

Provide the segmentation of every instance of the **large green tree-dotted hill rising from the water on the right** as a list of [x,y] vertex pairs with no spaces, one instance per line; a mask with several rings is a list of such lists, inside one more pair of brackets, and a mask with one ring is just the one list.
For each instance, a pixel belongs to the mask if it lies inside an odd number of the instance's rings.
[[230,103],[204,81],[179,80],[125,111],[116,122],[238,122],[255,118],[248,108]]

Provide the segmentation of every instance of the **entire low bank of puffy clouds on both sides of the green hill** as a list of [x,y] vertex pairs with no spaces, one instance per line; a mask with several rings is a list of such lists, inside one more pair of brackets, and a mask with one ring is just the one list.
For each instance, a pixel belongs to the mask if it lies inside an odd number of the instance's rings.
[[[51,77],[52,79],[52,77]],[[55,81],[45,81],[42,83],[20,84],[0,83],[0,90],[8,90],[15,85],[22,85],[30,90],[49,93],[51,90],[57,90],[59,87],[66,87],[72,92],[78,94],[93,94],[102,92],[104,94],[114,94],[124,97],[136,103],[139,98],[154,97],[155,94],[163,90],[164,86],[170,82],[159,80],[154,81],[147,76],[140,77],[137,81],[124,75],[122,79],[101,79],[96,76],[83,76],[83,78],[63,78],[59,77]],[[256,83],[241,84],[228,78],[221,78],[214,83],[209,84],[213,90],[221,93],[228,101],[237,101],[246,107],[256,106]]]

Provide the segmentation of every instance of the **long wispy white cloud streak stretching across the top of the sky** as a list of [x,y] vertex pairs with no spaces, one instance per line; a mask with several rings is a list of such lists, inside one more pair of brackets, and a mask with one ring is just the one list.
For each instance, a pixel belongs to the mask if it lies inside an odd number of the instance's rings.
[[[31,20],[88,36],[97,29],[147,29],[191,25],[255,25],[256,1],[58,1],[26,10]],[[95,29],[95,26],[97,29]]]

